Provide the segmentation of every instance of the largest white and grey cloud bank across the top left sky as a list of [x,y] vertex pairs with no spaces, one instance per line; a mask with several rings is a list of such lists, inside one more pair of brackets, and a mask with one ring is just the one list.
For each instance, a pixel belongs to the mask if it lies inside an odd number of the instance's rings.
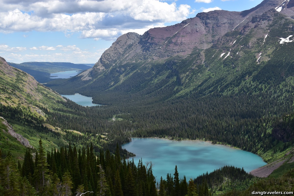
[[[211,0],[196,0],[209,3]],[[0,32],[60,31],[66,36],[114,39],[127,29],[138,32],[165,22],[181,21],[193,12],[186,4],[160,0],[2,0]],[[140,33],[141,34],[141,33]],[[52,48],[53,49],[53,48]]]

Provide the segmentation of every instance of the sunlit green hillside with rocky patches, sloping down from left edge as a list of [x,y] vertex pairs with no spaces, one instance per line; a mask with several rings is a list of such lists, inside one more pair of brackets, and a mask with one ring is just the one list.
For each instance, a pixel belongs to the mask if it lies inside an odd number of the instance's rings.
[[[91,113],[94,108],[85,108],[62,98],[32,76],[9,66],[3,58],[0,66],[1,122],[7,120],[13,131],[29,141],[29,145],[34,148],[33,152],[38,147],[40,138],[46,150],[59,149],[72,143],[80,147],[92,144],[96,152],[102,149],[111,149],[114,152],[116,143],[128,141],[124,133],[115,134],[106,132],[105,129],[96,129],[101,127],[100,124],[105,124],[105,120],[110,118],[109,114],[100,121],[93,120],[93,126],[89,125],[85,120],[86,114]],[[110,115],[113,116],[112,113]],[[60,116],[67,123],[61,124],[62,121],[58,119]],[[7,130],[8,125],[0,125],[1,129]],[[106,138],[105,134],[108,134]],[[1,132],[0,143],[3,156],[10,153],[22,162],[26,151],[24,145],[7,131]]]

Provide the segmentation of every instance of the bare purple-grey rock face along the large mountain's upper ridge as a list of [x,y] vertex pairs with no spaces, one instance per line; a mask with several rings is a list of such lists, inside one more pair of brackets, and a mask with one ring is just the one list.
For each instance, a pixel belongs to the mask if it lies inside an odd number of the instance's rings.
[[[102,54],[92,69],[80,74],[81,79],[94,79],[100,72],[113,66],[120,70],[119,66],[126,63],[145,65],[150,62],[164,63],[167,58],[175,56],[185,58],[195,50],[211,47],[225,33],[244,31],[242,29],[250,21],[268,20],[269,16],[263,14],[283,4],[283,1],[264,0],[258,6],[242,12],[215,10],[199,13],[179,24],[149,29],[143,35],[126,33]],[[293,1],[287,1],[288,5],[291,6]]]

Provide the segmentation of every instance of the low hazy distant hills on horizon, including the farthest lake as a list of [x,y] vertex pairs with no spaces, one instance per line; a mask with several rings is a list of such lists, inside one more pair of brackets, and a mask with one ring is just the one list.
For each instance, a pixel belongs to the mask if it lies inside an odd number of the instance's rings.
[[84,71],[93,67],[92,64],[74,64],[64,62],[25,62],[20,64],[8,62],[8,64],[31,74],[40,83],[52,81],[54,78],[50,78],[51,73],[72,70]]

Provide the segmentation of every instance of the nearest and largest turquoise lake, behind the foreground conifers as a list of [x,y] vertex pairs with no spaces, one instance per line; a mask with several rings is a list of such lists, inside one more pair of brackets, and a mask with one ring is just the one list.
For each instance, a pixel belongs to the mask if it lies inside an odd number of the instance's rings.
[[166,179],[167,173],[173,175],[176,165],[179,177],[183,178],[185,175],[188,181],[225,165],[243,167],[246,172],[250,172],[267,164],[253,153],[197,140],[132,138],[132,141],[124,144],[122,148],[136,154],[133,157],[136,165],[141,158],[145,165],[147,161],[151,161],[157,182],[161,176]]

